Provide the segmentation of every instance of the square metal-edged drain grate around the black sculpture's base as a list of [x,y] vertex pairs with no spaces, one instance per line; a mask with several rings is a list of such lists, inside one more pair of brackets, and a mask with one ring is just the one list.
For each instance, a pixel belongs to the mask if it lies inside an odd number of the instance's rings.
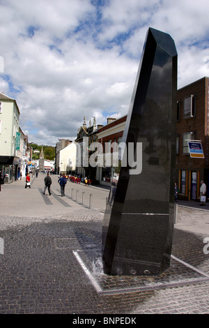
[[[144,292],[149,290],[160,290],[183,285],[205,283],[209,281],[209,275],[192,267],[192,265],[171,255],[171,269],[166,274],[157,277],[146,276],[107,276],[94,271],[93,263],[100,259],[99,250],[77,250],[73,251],[75,258],[84,270],[89,281],[95,288],[98,295],[119,295],[131,292]],[[173,264],[172,264],[173,262]]]

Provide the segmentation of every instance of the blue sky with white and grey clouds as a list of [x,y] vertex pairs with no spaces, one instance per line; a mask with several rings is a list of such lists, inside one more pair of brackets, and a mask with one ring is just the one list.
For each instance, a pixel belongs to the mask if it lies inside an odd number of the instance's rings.
[[148,27],[169,33],[178,88],[209,76],[208,0],[0,0],[0,92],[29,142],[127,114]]

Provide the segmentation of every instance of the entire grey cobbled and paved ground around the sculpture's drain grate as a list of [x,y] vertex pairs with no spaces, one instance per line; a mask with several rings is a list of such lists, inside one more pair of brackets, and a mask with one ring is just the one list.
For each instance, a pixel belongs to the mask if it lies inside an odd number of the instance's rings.
[[[43,179],[31,189],[24,181],[1,186],[1,314],[209,313],[209,280],[100,295],[73,251],[100,248],[108,189],[69,181],[61,197],[53,176],[52,195],[42,195]],[[179,205],[172,255],[209,277],[208,237],[209,211]]]

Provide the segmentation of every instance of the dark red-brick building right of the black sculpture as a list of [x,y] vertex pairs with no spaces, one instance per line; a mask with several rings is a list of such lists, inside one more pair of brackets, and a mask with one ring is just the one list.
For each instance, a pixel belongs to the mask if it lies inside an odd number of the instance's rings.
[[[200,181],[209,197],[209,78],[203,77],[177,92],[176,180],[178,198],[199,200]],[[199,140],[204,158],[191,158],[187,140]]]

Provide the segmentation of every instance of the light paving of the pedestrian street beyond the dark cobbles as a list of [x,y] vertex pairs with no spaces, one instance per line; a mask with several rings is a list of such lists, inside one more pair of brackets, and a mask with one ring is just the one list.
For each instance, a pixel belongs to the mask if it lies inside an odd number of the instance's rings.
[[[46,174],[31,175],[31,188],[25,187],[25,178],[15,181],[13,184],[1,185],[1,215],[9,216],[42,216],[54,214],[68,214],[75,209],[102,209],[106,206],[106,198],[109,188],[98,188],[98,186],[85,186],[67,181],[65,196],[61,197],[58,184],[59,176],[52,174],[52,195],[44,191],[44,179]],[[9,211],[8,211],[9,209]]]

